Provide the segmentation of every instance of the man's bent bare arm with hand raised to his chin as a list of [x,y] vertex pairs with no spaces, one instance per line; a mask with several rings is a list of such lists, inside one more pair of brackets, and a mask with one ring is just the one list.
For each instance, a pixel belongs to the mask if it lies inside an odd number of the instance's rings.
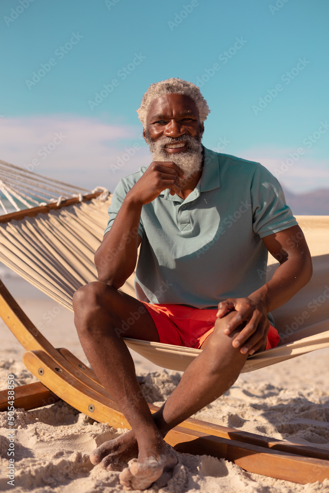
[[179,177],[183,172],[173,162],[153,162],[143,176],[129,190],[110,231],[96,251],[95,265],[98,279],[115,289],[121,287],[134,272],[137,249],[141,243],[138,226],[142,207],[154,200],[162,190],[170,188],[180,193]]

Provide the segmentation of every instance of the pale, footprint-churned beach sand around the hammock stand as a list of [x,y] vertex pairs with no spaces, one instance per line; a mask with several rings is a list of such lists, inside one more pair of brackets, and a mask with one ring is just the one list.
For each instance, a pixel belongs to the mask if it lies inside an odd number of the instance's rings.
[[[0,278],[40,332],[56,347],[65,347],[87,363],[73,325],[73,314],[1,267]],[[25,368],[25,350],[0,324],[0,388],[13,373],[17,385],[36,382]],[[225,395],[196,418],[293,443],[328,450],[329,349],[241,375]],[[136,372],[147,375],[142,386],[148,401],[162,403],[181,374],[166,371],[134,354]],[[90,452],[124,430],[97,423],[63,401],[15,413],[15,486],[7,484],[7,414],[0,413],[0,491],[110,493],[121,491],[118,472],[92,466]],[[328,492],[324,483],[298,485],[248,473],[224,459],[178,454],[178,465],[150,492]]]

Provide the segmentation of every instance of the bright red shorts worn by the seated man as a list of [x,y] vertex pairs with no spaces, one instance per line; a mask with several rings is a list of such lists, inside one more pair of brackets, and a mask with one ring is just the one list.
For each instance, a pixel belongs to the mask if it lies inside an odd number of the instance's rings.
[[[161,343],[200,349],[214,331],[217,309],[141,303],[152,317]],[[279,341],[278,331],[270,325],[265,350],[275,348]]]

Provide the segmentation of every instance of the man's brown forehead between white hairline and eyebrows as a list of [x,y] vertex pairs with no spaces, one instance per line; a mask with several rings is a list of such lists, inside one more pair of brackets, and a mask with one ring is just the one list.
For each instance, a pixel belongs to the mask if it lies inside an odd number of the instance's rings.
[[182,115],[193,115],[198,118],[198,110],[194,101],[183,94],[163,94],[152,101],[147,112],[147,121],[166,116],[177,118]]

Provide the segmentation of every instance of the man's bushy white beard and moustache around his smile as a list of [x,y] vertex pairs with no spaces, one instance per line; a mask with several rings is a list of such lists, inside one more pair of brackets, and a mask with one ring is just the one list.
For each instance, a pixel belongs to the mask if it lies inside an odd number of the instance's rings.
[[[177,139],[170,137],[162,137],[158,141],[152,141],[146,136],[146,142],[149,145],[149,150],[152,153],[153,161],[173,161],[177,166],[181,168],[186,179],[193,174],[197,173],[202,168],[202,145],[201,135],[197,138],[189,135],[183,135]],[[174,144],[177,142],[186,142],[188,149],[185,152],[175,152],[169,154],[164,150],[166,144]],[[180,178],[180,185],[183,184],[183,180]]]

